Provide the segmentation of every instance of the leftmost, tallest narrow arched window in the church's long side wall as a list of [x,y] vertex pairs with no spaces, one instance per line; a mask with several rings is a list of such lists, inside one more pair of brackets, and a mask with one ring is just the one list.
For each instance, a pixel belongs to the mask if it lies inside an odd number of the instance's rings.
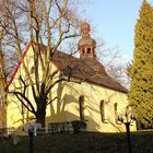
[[84,120],[84,96],[79,97],[80,120]]

